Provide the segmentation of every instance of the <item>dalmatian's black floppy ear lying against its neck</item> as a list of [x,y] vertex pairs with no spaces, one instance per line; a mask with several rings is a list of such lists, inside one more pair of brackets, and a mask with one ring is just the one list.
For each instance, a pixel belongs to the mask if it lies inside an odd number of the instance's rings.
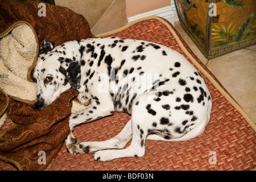
[[[67,64],[65,63],[65,66],[66,65]],[[69,84],[73,89],[80,88],[81,66],[77,61],[72,61],[71,63],[69,63],[67,68],[64,68],[61,65],[59,71],[67,78]]]

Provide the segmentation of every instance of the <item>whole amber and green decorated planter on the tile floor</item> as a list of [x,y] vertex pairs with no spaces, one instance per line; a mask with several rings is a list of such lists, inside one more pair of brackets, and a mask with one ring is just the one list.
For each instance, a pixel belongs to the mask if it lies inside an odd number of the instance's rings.
[[175,0],[181,26],[208,59],[256,43],[255,0]]

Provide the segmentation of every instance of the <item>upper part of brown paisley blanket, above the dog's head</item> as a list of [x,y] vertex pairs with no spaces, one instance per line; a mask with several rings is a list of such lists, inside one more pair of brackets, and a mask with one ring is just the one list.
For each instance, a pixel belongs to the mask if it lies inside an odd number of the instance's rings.
[[39,16],[41,1],[32,0],[0,0],[0,32],[20,20],[34,27],[38,35],[39,45],[46,39],[56,43],[56,46],[69,40],[80,40],[94,37],[89,23],[84,16],[72,10],[52,6],[47,3],[46,16]]

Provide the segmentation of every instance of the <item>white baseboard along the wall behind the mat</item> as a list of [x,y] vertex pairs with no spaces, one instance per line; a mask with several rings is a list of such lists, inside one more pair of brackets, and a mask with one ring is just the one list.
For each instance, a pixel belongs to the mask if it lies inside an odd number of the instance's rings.
[[[174,5],[174,7],[175,7],[175,5]],[[127,22],[130,23],[130,22],[133,22],[134,20],[137,20],[139,18],[144,18],[146,16],[160,16],[162,18],[167,19],[174,26],[175,13],[174,13],[172,5],[162,7],[160,9],[153,10],[153,11],[148,11],[147,13],[131,16],[131,17],[127,18]],[[178,18],[178,20],[179,20],[179,18]]]

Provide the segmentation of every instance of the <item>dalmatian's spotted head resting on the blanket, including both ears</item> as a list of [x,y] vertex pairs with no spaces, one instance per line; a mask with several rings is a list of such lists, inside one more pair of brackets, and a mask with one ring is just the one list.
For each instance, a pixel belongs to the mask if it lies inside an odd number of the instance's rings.
[[38,85],[36,109],[55,101],[61,93],[69,88],[80,86],[80,65],[76,59],[69,59],[63,53],[63,46],[43,40],[39,49],[38,61],[34,68],[33,80]]

